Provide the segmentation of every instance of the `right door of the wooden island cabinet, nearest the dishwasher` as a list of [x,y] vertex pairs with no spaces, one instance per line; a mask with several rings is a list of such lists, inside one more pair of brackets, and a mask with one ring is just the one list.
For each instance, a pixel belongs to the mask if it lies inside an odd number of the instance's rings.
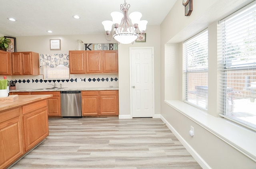
[[25,150],[28,151],[37,143],[42,141],[49,134],[48,130],[48,114],[46,107],[31,113],[24,114],[24,140]]

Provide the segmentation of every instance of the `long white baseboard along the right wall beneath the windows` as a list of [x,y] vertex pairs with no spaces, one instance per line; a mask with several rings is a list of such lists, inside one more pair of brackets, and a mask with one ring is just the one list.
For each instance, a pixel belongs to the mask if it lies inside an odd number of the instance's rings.
[[172,127],[172,125],[167,122],[167,120],[160,115],[161,120],[166,124],[166,126],[171,130],[171,132],[178,138],[178,140],[182,143],[182,145],[188,150],[188,152],[194,157],[194,159],[198,162],[198,164],[203,168],[203,169],[211,169],[211,167],[202,159],[202,157],[188,144],[182,136]]

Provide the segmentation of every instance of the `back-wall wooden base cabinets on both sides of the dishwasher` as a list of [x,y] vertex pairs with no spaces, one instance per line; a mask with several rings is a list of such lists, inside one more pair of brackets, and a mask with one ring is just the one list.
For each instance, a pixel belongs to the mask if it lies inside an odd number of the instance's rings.
[[[52,94],[47,98],[48,116],[61,116],[60,91],[12,92],[12,94]],[[118,90],[81,91],[82,116],[119,114]]]

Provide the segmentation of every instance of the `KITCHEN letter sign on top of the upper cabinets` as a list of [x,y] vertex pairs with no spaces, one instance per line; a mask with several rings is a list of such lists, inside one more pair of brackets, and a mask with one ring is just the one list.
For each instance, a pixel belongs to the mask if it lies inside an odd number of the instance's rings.
[[86,51],[118,50],[118,43],[85,43],[84,50]]

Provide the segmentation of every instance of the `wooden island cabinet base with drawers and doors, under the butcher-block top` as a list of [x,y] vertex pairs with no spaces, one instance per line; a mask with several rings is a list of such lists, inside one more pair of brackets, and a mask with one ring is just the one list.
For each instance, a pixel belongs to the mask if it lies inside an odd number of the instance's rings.
[[49,135],[47,100],[0,111],[0,169]]

